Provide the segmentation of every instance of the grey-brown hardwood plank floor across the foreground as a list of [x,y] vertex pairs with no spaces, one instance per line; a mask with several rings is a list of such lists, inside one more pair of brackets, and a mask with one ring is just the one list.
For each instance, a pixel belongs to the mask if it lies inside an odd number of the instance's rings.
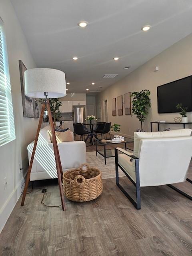
[[[93,150],[90,146],[87,150]],[[190,167],[189,177],[192,178]],[[121,184],[133,191],[126,177]],[[103,180],[102,195],[91,202],[60,204],[57,180],[35,182],[21,198],[0,234],[0,255],[10,256],[191,256],[192,201],[168,186],[141,189],[141,210],[122,194],[115,178]],[[182,184],[192,194],[192,184]]]

